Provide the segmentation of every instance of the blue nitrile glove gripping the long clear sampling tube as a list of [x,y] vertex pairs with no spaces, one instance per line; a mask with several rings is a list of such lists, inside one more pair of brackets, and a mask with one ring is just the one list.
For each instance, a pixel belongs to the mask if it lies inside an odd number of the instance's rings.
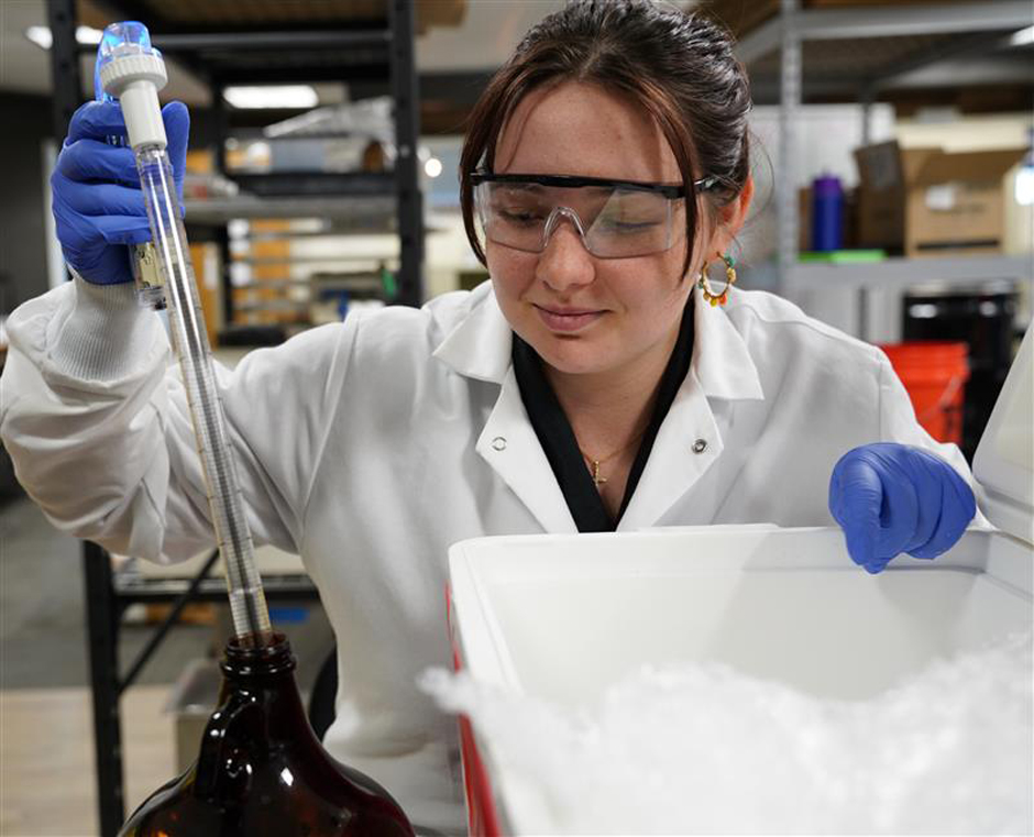
[[[183,102],[174,101],[162,108],[162,119],[182,202],[190,114]],[[117,102],[87,102],[72,115],[51,175],[65,261],[97,285],[132,282],[127,245],[151,240],[133,150],[109,144],[108,136],[125,136],[122,109]]]

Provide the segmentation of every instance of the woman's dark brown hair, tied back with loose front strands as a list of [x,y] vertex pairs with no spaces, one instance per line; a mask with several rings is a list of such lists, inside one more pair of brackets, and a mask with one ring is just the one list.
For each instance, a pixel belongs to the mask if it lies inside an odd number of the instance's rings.
[[749,174],[750,90],[732,37],[700,13],[651,0],[572,0],[518,44],[474,106],[460,157],[460,205],[474,254],[487,264],[474,224],[471,174],[493,170],[506,120],[532,90],[580,81],[639,102],[674,153],[686,203],[686,254],[696,240],[693,180],[715,178],[713,208],[729,203]]

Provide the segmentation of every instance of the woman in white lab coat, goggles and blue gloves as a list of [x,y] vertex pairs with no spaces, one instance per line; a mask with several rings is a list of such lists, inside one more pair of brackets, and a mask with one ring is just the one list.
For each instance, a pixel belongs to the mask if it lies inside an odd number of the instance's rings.
[[[828,499],[877,572],[944,551],[974,515],[958,451],[916,425],[882,353],[710,285],[712,265],[734,276],[752,196],[749,109],[704,19],[574,2],[472,117],[463,213],[491,283],[220,373],[254,537],[302,557],[337,634],[327,746],[418,826],[462,824],[452,722],[414,687],[448,660],[451,543],[828,525]],[[186,111],[165,117],[182,172]],[[125,284],[122,245],[147,229],[131,154],[103,143],[119,130],[111,106],[73,118],[53,189],[77,277],[11,317],[2,434],[56,525],[175,559],[212,532],[165,333]]]

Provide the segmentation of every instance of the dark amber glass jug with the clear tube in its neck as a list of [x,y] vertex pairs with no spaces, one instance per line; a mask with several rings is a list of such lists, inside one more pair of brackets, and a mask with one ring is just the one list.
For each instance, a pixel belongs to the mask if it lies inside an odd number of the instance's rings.
[[398,804],[334,761],[309,726],[283,635],[231,639],[198,760],[155,791],[123,837],[413,837]]

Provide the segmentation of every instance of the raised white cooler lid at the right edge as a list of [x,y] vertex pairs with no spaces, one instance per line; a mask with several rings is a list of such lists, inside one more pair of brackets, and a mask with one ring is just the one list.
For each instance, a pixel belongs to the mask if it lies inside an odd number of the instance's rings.
[[1034,544],[1034,324],[980,437],[974,476],[987,493],[988,519]]

